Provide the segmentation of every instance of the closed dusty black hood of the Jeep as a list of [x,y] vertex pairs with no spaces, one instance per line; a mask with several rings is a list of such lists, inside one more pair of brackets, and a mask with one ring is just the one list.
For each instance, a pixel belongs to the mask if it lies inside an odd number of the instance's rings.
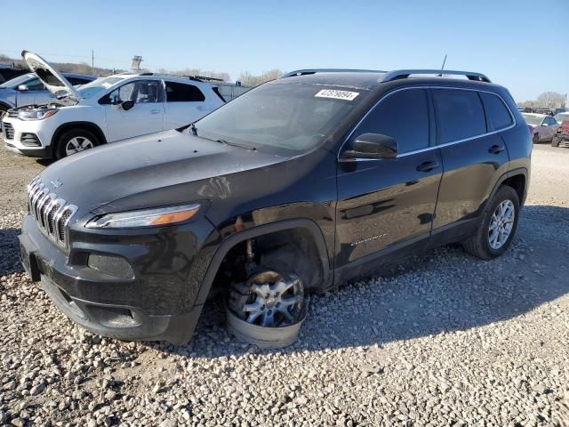
[[50,192],[77,205],[79,214],[102,214],[135,209],[137,204],[154,207],[227,198],[231,189],[224,175],[287,158],[172,130],[66,157],[47,167],[40,179]]

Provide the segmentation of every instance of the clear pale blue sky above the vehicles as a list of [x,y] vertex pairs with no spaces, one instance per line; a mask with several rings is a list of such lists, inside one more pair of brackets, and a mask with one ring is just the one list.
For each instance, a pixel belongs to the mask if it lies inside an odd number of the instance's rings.
[[130,68],[141,55],[151,70],[235,80],[273,68],[440,68],[447,54],[446,69],[482,72],[516,101],[569,93],[569,0],[4,0],[2,16],[0,53],[12,57],[91,63],[94,51],[95,66]]

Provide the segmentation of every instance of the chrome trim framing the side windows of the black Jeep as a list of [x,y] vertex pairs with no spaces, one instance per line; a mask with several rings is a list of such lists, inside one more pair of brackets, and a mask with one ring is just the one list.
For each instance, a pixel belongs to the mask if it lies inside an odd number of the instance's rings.
[[[365,118],[373,111],[373,109],[375,109],[380,104],[381,101],[387,99],[389,96],[391,96],[394,93],[401,92],[401,91],[410,91],[413,89],[427,89],[427,90],[429,90],[429,89],[452,89],[452,90],[458,90],[458,91],[490,93],[491,95],[494,95],[494,96],[497,96],[498,98],[500,98],[501,102],[504,104],[506,109],[508,109],[509,116],[512,119],[512,124],[509,126],[502,127],[500,129],[494,130],[492,132],[481,133],[479,135],[470,136],[469,138],[464,138],[462,140],[449,141],[449,142],[445,142],[444,144],[437,144],[437,145],[426,147],[424,149],[415,149],[413,151],[408,151],[406,153],[402,153],[402,154],[397,155],[397,157],[395,157],[395,158],[413,156],[414,154],[424,153],[426,151],[430,151],[431,149],[442,149],[445,147],[450,147],[452,145],[460,144],[462,142],[477,140],[478,138],[484,138],[485,136],[490,136],[490,135],[493,135],[493,134],[496,134],[499,132],[509,131],[509,129],[512,129],[512,128],[516,127],[516,125],[517,125],[516,117],[512,113],[511,109],[509,109],[508,103],[506,101],[504,101],[504,99],[498,93],[493,93],[493,92],[485,91],[485,90],[481,90],[481,89],[469,89],[469,88],[465,88],[465,87],[454,87],[454,86],[424,86],[424,85],[421,85],[421,86],[400,87],[400,88],[396,89],[395,91],[386,93],[384,96],[382,96],[381,99],[379,99],[378,101],[376,101],[373,104],[373,107],[371,109],[367,110],[364,117],[362,117],[357,122],[357,125],[354,126],[354,129],[352,129],[352,131],[349,133],[349,135],[346,137],[346,139],[342,142],[340,149],[338,150],[338,154],[337,154],[338,162],[369,162],[369,161],[385,160],[384,158],[340,157],[340,154],[341,154],[342,149],[344,149],[344,145],[346,145],[346,143],[349,141],[349,139],[352,137],[352,135],[357,131],[357,128],[359,127],[359,125],[362,124],[362,122],[365,120]],[[482,102],[482,106],[483,106],[483,108],[485,108],[484,101],[480,100],[480,102]],[[435,108],[434,105],[433,105],[433,108]]]

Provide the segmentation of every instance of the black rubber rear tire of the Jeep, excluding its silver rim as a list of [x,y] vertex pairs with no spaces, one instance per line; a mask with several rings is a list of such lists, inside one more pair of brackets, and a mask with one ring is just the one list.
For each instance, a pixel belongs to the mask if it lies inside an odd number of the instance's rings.
[[[489,241],[490,222],[498,206],[507,200],[511,201],[514,205],[514,222],[507,240],[501,245],[501,247],[494,249],[490,246]],[[488,201],[482,215],[482,221],[478,224],[476,232],[470,236],[468,240],[462,242],[462,246],[466,252],[471,255],[477,256],[483,260],[493,260],[508,250],[511,245],[512,238],[514,238],[514,235],[516,234],[518,219],[519,197],[517,197],[517,192],[511,187],[503,185],[498,189],[498,191],[496,191],[494,197]]]

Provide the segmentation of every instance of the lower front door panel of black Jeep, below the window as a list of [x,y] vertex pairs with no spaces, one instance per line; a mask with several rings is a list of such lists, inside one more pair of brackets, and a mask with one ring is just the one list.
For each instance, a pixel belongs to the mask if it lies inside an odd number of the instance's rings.
[[[417,167],[439,165],[428,172]],[[342,163],[336,215],[337,266],[429,235],[443,172],[438,149],[392,159]]]

